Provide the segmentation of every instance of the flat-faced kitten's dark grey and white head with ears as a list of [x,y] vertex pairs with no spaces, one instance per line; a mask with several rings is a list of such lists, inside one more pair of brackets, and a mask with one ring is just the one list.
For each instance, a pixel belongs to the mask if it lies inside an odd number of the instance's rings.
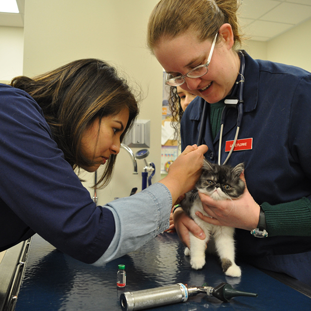
[[217,165],[206,161],[196,187],[199,192],[214,200],[237,199],[245,189],[245,184],[240,179],[243,170],[243,163],[232,168],[228,165]]

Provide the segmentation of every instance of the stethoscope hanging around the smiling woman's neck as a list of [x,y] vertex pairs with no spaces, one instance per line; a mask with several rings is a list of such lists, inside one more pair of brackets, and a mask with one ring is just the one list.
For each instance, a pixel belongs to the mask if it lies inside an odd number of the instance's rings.
[[[242,122],[242,116],[243,116],[243,86],[244,86],[244,69],[245,69],[245,58],[243,52],[239,51],[240,54],[240,71],[237,76],[237,79],[234,83],[232,92],[229,96],[227,96],[224,100],[224,108],[221,113],[221,123],[220,123],[220,133],[219,133],[219,148],[218,148],[218,164],[220,165],[220,159],[221,159],[221,143],[222,143],[222,131],[223,131],[223,125],[225,122],[227,110],[229,108],[236,108],[238,111],[237,115],[237,122],[236,122],[236,132],[235,132],[235,137],[233,140],[233,144],[231,146],[231,149],[222,163],[222,165],[226,164],[227,161],[229,160],[231,153],[234,149],[234,146],[237,141],[237,137],[239,134],[241,122]],[[203,135],[205,132],[205,126],[206,126],[206,120],[207,120],[207,103],[204,104],[203,107],[203,112],[202,112],[202,117],[201,117],[201,127],[199,131],[199,138],[198,138],[198,143],[197,145],[200,146],[203,141]]]

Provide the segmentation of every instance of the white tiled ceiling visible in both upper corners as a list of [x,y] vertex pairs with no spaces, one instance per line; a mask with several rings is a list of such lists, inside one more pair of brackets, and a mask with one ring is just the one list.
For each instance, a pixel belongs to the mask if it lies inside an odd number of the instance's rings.
[[[0,26],[23,27],[25,0],[16,0],[20,13],[0,13]],[[240,23],[256,41],[270,39],[311,18],[311,0],[239,0]]]

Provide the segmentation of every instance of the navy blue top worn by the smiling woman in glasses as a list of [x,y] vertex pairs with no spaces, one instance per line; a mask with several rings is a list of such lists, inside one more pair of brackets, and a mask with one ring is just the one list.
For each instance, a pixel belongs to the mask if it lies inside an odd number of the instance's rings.
[[[245,52],[244,52],[245,53]],[[245,53],[244,115],[238,139],[252,138],[252,149],[234,151],[227,164],[244,162],[247,188],[261,205],[311,199],[311,74],[303,69],[254,60]],[[182,150],[197,143],[205,101],[197,97],[181,121]],[[225,142],[234,139],[237,111],[229,109],[223,129]],[[209,117],[203,144],[207,160],[218,163],[219,133],[212,140]],[[301,253],[311,250],[310,237],[253,237],[236,229],[237,253],[243,258]]]

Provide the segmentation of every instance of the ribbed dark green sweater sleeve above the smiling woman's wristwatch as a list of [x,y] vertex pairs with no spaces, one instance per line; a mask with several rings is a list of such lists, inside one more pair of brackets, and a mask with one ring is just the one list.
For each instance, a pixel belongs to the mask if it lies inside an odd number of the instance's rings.
[[297,201],[261,205],[266,216],[269,236],[311,236],[311,202],[307,198]]

